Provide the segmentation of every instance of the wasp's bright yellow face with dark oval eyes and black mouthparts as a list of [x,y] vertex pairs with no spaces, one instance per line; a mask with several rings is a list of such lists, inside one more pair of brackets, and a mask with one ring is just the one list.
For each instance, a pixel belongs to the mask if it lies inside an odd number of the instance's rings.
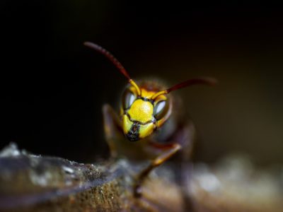
[[134,86],[126,88],[122,96],[122,129],[129,141],[138,141],[150,136],[161,127],[171,114],[171,102],[165,95],[155,100],[151,97],[156,92],[141,88],[137,95]]

